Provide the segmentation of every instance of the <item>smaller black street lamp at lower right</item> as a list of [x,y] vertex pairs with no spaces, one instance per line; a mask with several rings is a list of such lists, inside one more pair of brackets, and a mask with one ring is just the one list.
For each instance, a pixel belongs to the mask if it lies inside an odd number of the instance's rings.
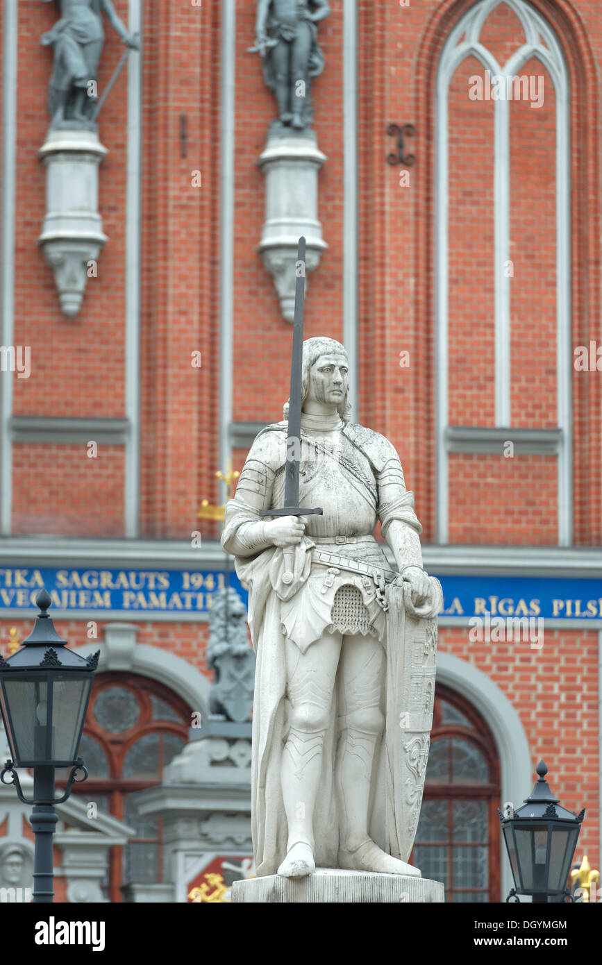
[[570,895],[566,879],[586,809],[577,815],[562,808],[545,780],[547,773],[540,760],[539,778],[523,807],[511,816],[498,808],[515,886],[506,901],[518,901],[518,895],[532,895],[536,902]]

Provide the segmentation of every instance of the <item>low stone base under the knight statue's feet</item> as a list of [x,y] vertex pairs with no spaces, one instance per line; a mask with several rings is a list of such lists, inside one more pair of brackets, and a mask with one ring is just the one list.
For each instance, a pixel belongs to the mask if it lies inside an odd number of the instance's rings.
[[270,874],[234,881],[232,900],[256,904],[441,903],[444,889],[441,882],[428,878],[318,868],[307,878]]

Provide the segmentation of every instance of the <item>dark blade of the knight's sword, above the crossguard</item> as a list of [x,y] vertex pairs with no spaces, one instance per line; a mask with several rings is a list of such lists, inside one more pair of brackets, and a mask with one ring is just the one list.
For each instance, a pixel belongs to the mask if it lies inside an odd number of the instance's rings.
[[[299,455],[301,451],[301,392],[303,370],[303,309],[305,302],[305,238],[299,238],[296,265],[295,310],[292,323],[292,360],[288,399],[287,470],[285,509],[299,505]],[[296,458],[295,458],[296,456]]]

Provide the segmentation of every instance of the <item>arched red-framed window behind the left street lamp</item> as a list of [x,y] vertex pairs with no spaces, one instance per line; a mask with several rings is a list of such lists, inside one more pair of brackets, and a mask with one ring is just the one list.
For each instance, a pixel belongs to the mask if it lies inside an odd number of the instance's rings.
[[96,678],[79,750],[89,778],[72,793],[136,829],[124,848],[111,852],[105,887],[112,902],[122,901],[124,884],[162,880],[162,821],[139,817],[133,795],[161,784],[187,742],[189,721],[187,703],[156,680],[119,673]]

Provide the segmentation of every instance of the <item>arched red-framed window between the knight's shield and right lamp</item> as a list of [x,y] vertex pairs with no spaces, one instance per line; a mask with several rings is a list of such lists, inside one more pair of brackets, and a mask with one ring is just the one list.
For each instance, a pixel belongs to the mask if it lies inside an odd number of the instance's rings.
[[500,901],[500,765],[479,712],[437,685],[412,864],[446,901]]

